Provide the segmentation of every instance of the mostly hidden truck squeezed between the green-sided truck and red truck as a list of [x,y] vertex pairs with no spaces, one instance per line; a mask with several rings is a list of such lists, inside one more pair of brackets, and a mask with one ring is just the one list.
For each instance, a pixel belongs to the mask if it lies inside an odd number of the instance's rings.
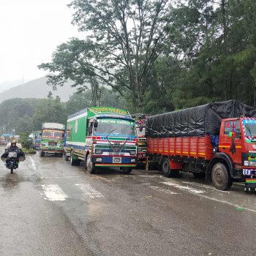
[[135,118],[135,127],[138,136],[138,168],[145,169],[147,155],[147,140],[146,140],[146,114],[132,114]]

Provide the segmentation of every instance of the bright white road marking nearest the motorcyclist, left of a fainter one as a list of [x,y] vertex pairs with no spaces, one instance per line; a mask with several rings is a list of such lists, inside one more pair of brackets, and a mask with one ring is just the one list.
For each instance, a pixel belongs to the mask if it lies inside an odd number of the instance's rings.
[[57,184],[41,185],[45,193],[45,200],[49,201],[64,201],[68,195]]

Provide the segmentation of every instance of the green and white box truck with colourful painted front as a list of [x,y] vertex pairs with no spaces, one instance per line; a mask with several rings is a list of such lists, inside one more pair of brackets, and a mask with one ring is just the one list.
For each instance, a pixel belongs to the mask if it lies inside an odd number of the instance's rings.
[[101,167],[120,167],[130,173],[137,165],[137,143],[135,120],[127,110],[85,108],[67,118],[65,149],[70,163],[86,162],[89,173]]

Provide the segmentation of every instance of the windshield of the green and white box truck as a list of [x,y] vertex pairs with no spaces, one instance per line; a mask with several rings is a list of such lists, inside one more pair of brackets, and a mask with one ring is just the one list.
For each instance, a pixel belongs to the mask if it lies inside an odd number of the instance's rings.
[[114,118],[100,118],[94,135],[135,136],[135,122]]

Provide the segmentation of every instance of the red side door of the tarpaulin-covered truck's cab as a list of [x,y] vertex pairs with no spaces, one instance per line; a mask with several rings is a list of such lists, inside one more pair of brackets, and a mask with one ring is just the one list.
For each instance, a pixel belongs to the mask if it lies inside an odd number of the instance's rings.
[[228,154],[234,163],[241,164],[241,127],[239,121],[225,121],[219,151]]

